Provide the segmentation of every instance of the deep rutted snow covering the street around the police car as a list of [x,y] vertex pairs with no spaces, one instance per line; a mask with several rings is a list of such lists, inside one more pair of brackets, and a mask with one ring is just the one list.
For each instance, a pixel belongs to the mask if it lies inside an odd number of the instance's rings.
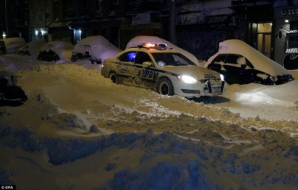
[[88,61],[0,63],[29,97],[0,107],[0,184],[297,189],[298,80],[186,100],[115,85]]

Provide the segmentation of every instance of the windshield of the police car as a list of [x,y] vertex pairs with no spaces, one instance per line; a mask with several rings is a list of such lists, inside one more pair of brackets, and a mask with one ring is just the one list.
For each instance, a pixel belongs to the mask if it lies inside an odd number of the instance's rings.
[[195,65],[194,62],[181,53],[152,53],[157,65],[164,66],[188,66]]

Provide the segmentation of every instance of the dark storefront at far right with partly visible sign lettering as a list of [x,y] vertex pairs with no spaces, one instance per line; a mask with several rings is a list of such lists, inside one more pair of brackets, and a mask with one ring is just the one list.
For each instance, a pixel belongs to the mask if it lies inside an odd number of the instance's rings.
[[298,69],[298,6],[277,7],[274,60],[286,69]]

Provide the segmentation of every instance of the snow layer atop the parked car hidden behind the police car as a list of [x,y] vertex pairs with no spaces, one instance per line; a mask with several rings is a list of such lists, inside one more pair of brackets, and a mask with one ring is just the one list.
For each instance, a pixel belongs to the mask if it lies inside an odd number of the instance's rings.
[[185,55],[186,57],[188,57],[188,59],[193,61],[196,65],[199,65],[199,61],[197,60],[197,57],[195,57],[195,55],[193,55],[192,53],[188,52],[187,50],[183,50],[182,48],[175,46],[173,43],[171,43],[165,39],[161,39],[157,36],[136,36],[133,39],[131,39],[129,41],[129,43],[127,43],[127,47],[125,49],[140,46],[141,43],[157,43],[157,44],[165,43],[165,44],[167,44],[167,47],[173,48],[173,50],[176,50],[177,52]]

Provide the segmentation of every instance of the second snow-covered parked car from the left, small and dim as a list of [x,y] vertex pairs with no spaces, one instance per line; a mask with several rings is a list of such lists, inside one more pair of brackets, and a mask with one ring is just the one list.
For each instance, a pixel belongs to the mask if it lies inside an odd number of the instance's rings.
[[18,55],[37,55],[42,46],[46,44],[46,41],[32,41],[30,43],[26,43],[25,46],[22,46],[18,49]]

